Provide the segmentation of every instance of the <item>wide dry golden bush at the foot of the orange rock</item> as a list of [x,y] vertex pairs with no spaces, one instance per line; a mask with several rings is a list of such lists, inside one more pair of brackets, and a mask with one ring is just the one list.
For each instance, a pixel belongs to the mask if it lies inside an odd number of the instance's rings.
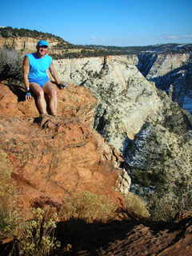
[[116,214],[117,206],[108,198],[89,191],[66,198],[59,215],[62,219],[83,219],[86,222],[106,221]]

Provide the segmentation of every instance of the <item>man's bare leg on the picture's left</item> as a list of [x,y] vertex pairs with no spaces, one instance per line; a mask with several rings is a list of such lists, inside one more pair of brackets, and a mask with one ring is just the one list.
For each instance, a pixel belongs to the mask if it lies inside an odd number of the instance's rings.
[[31,82],[30,83],[30,90],[34,92],[34,94],[37,96],[37,105],[38,105],[38,111],[40,114],[47,114],[46,113],[46,101],[44,98],[44,91],[41,86],[38,85],[38,83]]

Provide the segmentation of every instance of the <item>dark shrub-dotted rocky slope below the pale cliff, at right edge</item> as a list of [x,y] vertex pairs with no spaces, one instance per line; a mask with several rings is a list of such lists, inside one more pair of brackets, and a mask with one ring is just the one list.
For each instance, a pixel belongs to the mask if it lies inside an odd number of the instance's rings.
[[146,122],[130,141],[125,152],[126,170],[137,194],[148,199],[156,194],[178,203],[190,198],[192,192],[191,115],[165,93],[159,91],[158,95],[162,113],[156,122]]

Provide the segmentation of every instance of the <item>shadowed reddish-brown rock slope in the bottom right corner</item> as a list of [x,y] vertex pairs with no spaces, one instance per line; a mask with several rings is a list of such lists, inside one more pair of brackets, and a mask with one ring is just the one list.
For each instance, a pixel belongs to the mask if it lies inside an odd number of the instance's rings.
[[171,224],[132,221],[89,226],[79,236],[70,256],[191,256],[192,218],[178,215]]

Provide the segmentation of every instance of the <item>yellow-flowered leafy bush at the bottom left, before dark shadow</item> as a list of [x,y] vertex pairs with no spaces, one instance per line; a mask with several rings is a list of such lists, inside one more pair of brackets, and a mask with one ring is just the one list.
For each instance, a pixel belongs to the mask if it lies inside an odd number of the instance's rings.
[[19,255],[44,256],[58,250],[60,242],[54,238],[56,222],[58,215],[52,208],[34,209],[32,220],[21,226],[21,234],[18,236]]

